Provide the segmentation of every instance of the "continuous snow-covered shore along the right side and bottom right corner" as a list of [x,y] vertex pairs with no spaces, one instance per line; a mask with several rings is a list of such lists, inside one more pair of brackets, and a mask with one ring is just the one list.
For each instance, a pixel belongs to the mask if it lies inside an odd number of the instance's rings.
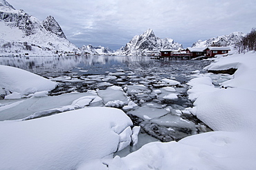
[[230,81],[221,83],[227,89],[212,85],[213,74],[197,75],[188,83],[195,100],[192,113],[214,131],[179,142],[149,143],[125,158],[116,156],[108,169],[256,169],[255,63],[256,54],[250,52],[205,67],[237,68]]

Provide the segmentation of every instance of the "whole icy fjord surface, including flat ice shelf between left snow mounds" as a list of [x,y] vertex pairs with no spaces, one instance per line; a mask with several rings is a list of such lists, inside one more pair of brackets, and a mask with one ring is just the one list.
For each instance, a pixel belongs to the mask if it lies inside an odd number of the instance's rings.
[[[149,56],[1,57],[1,65],[19,67],[55,81],[48,97],[0,100],[0,120],[37,118],[84,106],[118,107],[141,127],[138,146],[180,140],[202,132],[203,123],[190,114],[186,83],[208,61],[158,61]],[[214,77],[214,85],[228,76]]]

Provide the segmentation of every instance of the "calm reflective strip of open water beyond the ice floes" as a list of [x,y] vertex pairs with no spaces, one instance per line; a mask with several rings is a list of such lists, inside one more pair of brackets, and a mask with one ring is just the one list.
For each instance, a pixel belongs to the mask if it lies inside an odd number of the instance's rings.
[[[106,74],[116,68],[137,74],[158,74],[175,77],[178,81],[188,81],[188,74],[201,70],[209,63],[204,61],[158,61],[149,56],[30,56],[0,57],[0,65],[19,67],[44,76],[62,76],[65,73],[82,75]],[[190,78],[189,78],[190,79]]]

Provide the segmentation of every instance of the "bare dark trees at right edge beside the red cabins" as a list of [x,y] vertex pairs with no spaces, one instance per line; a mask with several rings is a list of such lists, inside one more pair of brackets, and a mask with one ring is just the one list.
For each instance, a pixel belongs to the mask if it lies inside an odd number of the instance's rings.
[[256,51],[256,28],[253,28],[250,33],[242,37],[241,41],[237,42],[236,46],[239,53],[252,50]]

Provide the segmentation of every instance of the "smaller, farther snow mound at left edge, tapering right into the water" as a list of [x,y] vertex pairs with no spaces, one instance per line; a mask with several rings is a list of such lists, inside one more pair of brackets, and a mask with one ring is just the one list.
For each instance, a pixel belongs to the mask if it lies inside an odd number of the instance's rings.
[[[40,91],[51,91],[57,86],[57,83],[42,76],[6,65],[0,65],[0,79],[0,89],[4,89],[0,91],[1,94],[17,92],[27,95]],[[5,93],[4,95],[6,95]]]

